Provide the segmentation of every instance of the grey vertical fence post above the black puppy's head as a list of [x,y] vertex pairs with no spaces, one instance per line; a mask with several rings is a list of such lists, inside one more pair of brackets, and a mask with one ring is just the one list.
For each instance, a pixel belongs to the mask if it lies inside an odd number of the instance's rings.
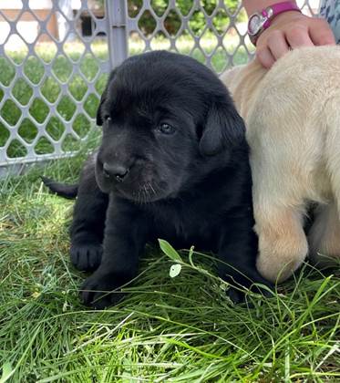
[[111,68],[128,57],[127,0],[107,0],[108,54]]

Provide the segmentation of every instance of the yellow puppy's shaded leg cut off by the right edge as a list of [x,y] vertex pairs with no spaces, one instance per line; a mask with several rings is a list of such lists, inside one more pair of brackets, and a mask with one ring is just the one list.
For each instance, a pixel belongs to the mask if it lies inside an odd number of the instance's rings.
[[321,267],[340,261],[340,220],[336,202],[319,205],[314,212],[314,223],[308,233],[310,257]]

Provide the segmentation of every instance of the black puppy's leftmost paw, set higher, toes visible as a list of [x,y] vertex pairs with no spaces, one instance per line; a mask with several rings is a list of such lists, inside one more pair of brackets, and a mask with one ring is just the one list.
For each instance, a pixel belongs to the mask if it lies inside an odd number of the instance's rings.
[[71,243],[71,262],[80,271],[96,270],[102,254],[101,243]]

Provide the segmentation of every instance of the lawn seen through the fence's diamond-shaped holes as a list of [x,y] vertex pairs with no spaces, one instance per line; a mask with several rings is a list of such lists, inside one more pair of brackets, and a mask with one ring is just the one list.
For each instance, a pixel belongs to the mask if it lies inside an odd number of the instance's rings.
[[[226,50],[232,54],[237,47],[236,36],[229,35],[224,39]],[[212,35],[204,36],[201,40],[201,48],[208,54],[211,54],[217,45],[217,38]],[[54,43],[42,43],[36,47],[36,56],[26,57],[26,49],[10,51],[8,57],[0,57],[0,84],[5,87],[10,86],[12,98],[6,99],[4,105],[0,109],[0,115],[5,119],[6,123],[13,127],[21,117],[21,107],[19,108],[13,99],[15,99],[23,108],[29,106],[30,119],[25,118],[20,123],[18,133],[26,144],[31,144],[38,132],[38,124],[46,126],[47,136],[39,139],[34,147],[37,155],[52,154],[54,152],[53,140],[60,140],[65,131],[65,124],[70,121],[76,113],[76,103],[65,94],[62,93],[60,83],[64,84],[67,92],[77,101],[81,101],[84,112],[78,113],[73,120],[72,129],[76,133],[76,137],[69,134],[63,137],[62,150],[77,150],[79,147],[79,139],[84,139],[88,134],[91,125],[91,119],[96,116],[98,108],[98,95],[105,88],[108,74],[100,73],[98,75],[99,61],[108,60],[108,46],[104,41],[99,41],[91,45],[93,55],[86,53],[84,56],[84,46],[80,42],[73,42],[64,46],[64,55],[57,54],[57,47]],[[151,42],[153,49],[169,49],[170,45],[165,38],[158,36]],[[191,36],[181,36],[176,47],[180,53],[189,54],[193,47]],[[142,52],[144,48],[143,41],[138,36],[132,36],[129,41],[129,54],[135,55]],[[205,58],[199,49],[192,52],[192,56],[204,62]],[[233,64],[246,62],[248,56],[244,47],[240,47],[233,57]],[[22,65],[23,71],[28,78],[15,78],[15,66]],[[26,61],[25,61],[26,60]],[[46,77],[45,68],[42,62],[50,63],[53,77]],[[79,65],[81,74],[72,74],[72,62]],[[211,58],[211,65],[216,71],[221,72],[223,68],[232,64],[229,62],[225,51],[219,48]],[[98,75],[98,78],[96,76]],[[96,78],[96,80],[95,80]],[[87,81],[93,82],[98,92],[90,93],[87,97],[85,94],[88,89]],[[31,83],[37,85],[42,94],[41,97],[34,96]],[[4,92],[0,89],[0,100],[4,98]],[[55,103],[58,115],[48,117],[49,106],[46,101]],[[5,146],[9,139],[9,130],[5,124],[0,122],[0,150]],[[52,139],[52,140],[51,140]],[[20,140],[12,140],[6,150],[9,158],[20,158],[26,156],[27,150]]]

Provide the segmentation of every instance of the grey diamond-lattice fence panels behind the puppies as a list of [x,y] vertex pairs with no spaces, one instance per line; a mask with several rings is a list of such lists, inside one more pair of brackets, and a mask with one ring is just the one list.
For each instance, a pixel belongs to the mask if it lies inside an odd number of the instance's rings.
[[253,53],[238,0],[0,0],[0,170],[76,152],[108,72],[151,49],[217,73]]

